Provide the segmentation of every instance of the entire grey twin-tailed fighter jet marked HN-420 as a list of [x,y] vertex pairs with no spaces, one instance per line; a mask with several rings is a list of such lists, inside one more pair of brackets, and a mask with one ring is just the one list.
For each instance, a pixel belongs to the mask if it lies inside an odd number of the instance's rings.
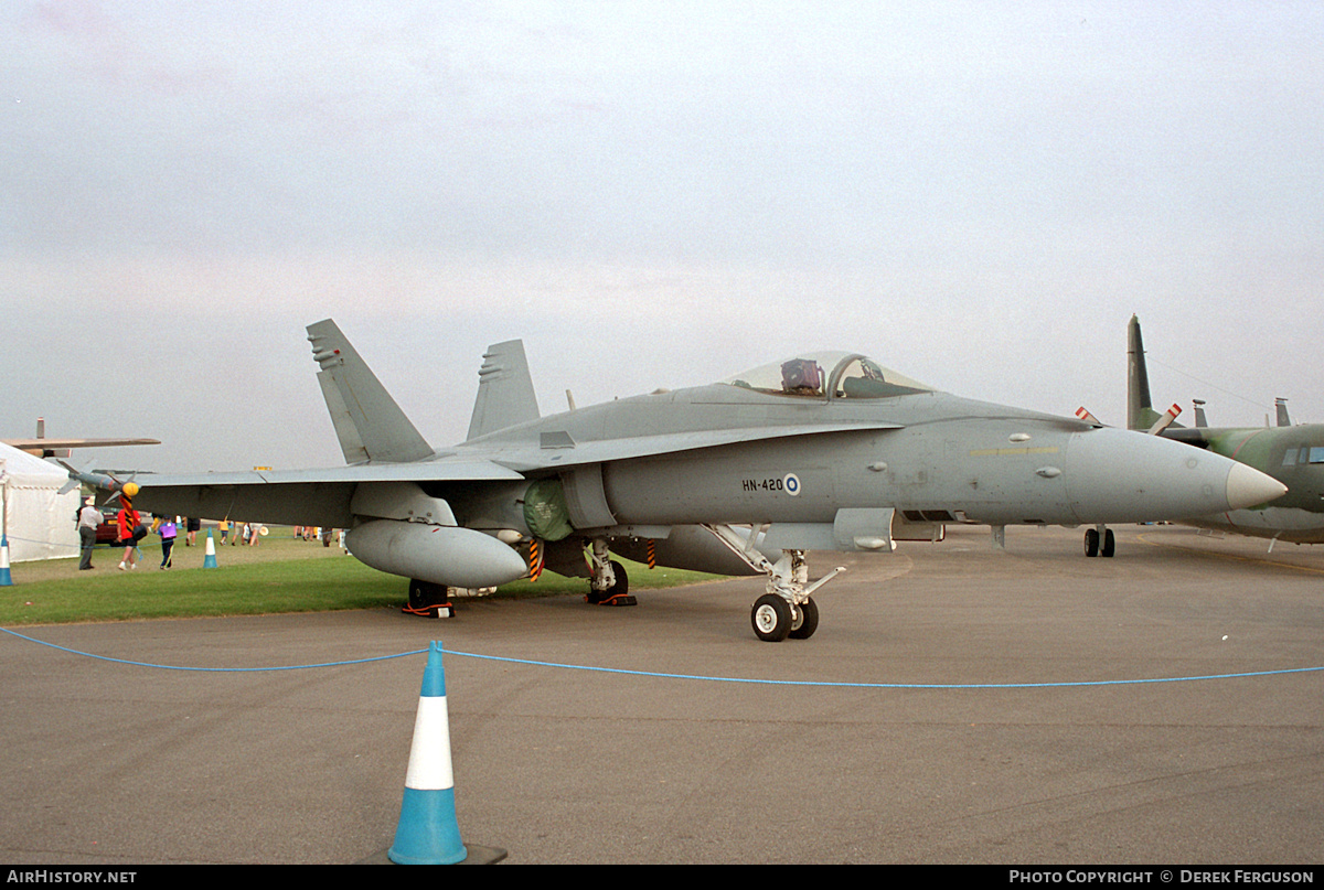
[[498,343],[469,437],[438,452],[334,322],[307,331],[347,466],[139,477],[134,503],[348,528],[357,559],[410,579],[410,601],[545,566],[588,575],[591,603],[628,603],[614,551],[767,575],[755,634],[806,638],[813,593],[842,571],[810,581],[810,550],[887,554],[949,522],[998,539],[1008,524],[1181,519],[1283,493],[1218,454],[961,399],[846,352],[542,417],[523,343]]

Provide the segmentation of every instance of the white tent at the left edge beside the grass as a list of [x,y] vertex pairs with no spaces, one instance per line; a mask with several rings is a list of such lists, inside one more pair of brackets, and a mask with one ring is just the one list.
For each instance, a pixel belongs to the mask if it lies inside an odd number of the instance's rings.
[[0,442],[0,479],[9,562],[78,555],[78,489],[60,494],[68,473]]

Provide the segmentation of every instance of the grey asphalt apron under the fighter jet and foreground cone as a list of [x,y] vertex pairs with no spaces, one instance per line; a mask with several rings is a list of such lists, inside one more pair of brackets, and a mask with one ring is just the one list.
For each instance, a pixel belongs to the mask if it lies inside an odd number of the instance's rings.
[[507,864],[1319,864],[1324,548],[1116,531],[816,554],[849,571],[780,644],[761,579],[17,628],[0,860],[381,861],[440,640],[459,830]]

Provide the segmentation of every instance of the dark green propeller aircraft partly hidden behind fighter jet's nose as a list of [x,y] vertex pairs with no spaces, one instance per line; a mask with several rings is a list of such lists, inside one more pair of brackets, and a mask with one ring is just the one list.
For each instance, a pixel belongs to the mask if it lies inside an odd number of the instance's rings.
[[[1160,415],[1149,404],[1149,371],[1135,315],[1127,326],[1127,426],[1151,429]],[[1278,540],[1324,543],[1324,424],[1294,426],[1286,401],[1279,399],[1276,426],[1267,419],[1264,426],[1209,426],[1202,405],[1196,403],[1194,426],[1170,424],[1160,434],[1253,466],[1287,486],[1287,494],[1254,509],[1188,518],[1184,524],[1268,538],[1270,550]],[[1174,411],[1169,409],[1169,416],[1174,417]]]

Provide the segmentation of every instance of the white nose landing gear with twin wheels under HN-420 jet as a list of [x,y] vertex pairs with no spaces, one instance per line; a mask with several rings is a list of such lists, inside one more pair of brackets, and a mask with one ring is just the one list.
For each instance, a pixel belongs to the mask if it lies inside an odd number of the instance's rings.
[[749,611],[749,624],[756,637],[764,642],[808,640],[818,629],[818,604],[810,593],[846,571],[837,567],[809,584],[809,567],[805,564],[805,551],[784,550],[776,563],[759,552],[753,540],[759,527],[752,526],[749,539],[743,539],[731,526],[704,526],[718,539],[740,556],[751,568],[768,576],[768,592],[753,603]]

